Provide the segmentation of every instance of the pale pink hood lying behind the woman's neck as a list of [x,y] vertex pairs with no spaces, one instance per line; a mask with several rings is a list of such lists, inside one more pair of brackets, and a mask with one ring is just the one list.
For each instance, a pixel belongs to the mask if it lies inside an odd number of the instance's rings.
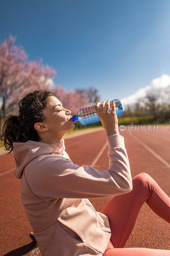
[[63,156],[64,150],[64,139],[51,145],[33,140],[28,140],[26,142],[13,142],[13,153],[17,166],[14,171],[15,176],[18,179],[21,179],[24,168],[34,158],[47,154]]

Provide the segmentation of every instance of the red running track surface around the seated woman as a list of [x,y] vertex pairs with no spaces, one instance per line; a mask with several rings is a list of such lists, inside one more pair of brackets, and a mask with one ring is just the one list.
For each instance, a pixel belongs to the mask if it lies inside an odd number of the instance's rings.
[[[139,126],[140,127],[140,126]],[[140,129],[139,129],[140,130]],[[125,147],[129,156],[132,178],[140,172],[148,173],[169,196],[170,181],[170,126],[159,126],[158,131],[126,131],[120,132],[125,139]],[[135,136],[134,136],[135,135]],[[137,140],[139,139],[139,140]],[[65,139],[65,150],[73,163],[79,166],[91,166],[106,143],[106,133],[103,130]],[[141,144],[141,143],[144,144]],[[153,154],[148,151],[148,146]],[[99,160],[93,166],[96,169],[107,170],[108,146],[104,149]],[[154,153],[155,152],[155,153]],[[166,163],[162,162],[165,160]],[[36,248],[36,241],[29,236],[32,228],[20,199],[20,180],[14,171],[16,168],[13,154],[0,156],[0,256],[37,255],[41,253]],[[90,199],[97,211],[111,197]],[[146,247],[153,249],[170,249],[169,224],[157,216],[149,206],[142,206],[135,227],[125,247]],[[49,255],[50,256],[50,255]]]

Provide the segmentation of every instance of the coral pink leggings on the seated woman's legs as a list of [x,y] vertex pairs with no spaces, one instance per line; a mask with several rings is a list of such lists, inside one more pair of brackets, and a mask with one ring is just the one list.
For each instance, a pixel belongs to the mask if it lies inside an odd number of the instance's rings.
[[135,225],[140,208],[146,202],[162,219],[170,223],[170,198],[147,173],[132,179],[131,192],[113,196],[101,210],[108,217],[111,237],[103,256],[170,256],[170,250],[123,248]]

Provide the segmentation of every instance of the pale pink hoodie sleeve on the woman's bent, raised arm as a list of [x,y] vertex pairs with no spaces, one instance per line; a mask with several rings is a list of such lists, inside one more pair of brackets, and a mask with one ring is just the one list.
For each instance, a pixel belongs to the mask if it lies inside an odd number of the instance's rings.
[[109,167],[107,171],[78,166],[65,157],[39,156],[25,168],[27,184],[43,201],[55,198],[100,198],[132,190],[129,159],[124,137],[107,137]]

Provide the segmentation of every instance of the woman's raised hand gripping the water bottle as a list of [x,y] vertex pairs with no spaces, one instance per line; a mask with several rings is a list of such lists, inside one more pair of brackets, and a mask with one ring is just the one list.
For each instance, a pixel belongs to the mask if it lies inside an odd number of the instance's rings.
[[[105,110],[106,108],[106,110]],[[116,115],[115,102],[112,100],[112,109],[110,111],[110,101],[97,102],[95,105],[95,110],[100,118],[103,128],[106,131],[107,136],[119,134],[118,129],[118,119]]]

